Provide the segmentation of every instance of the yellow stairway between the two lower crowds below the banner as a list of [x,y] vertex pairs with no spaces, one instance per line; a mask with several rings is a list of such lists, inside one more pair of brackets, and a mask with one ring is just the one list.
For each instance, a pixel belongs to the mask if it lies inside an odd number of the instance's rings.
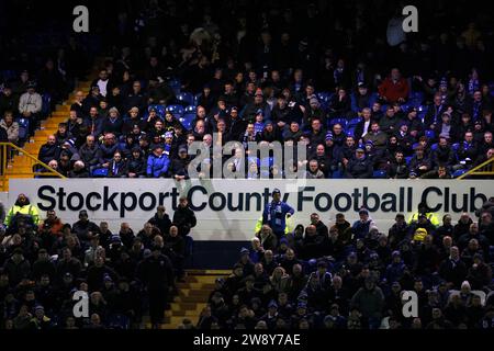
[[[171,308],[165,312],[164,324],[160,329],[177,329],[184,318],[190,319],[197,326],[202,309],[207,304],[207,298],[214,290],[216,278],[226,279],[232,271],[222,270],[191,270],[188,271],[186,282],[178,283],[178,295],[170,304]],[[143,317],[143,327],[151,328],[149,316]]]

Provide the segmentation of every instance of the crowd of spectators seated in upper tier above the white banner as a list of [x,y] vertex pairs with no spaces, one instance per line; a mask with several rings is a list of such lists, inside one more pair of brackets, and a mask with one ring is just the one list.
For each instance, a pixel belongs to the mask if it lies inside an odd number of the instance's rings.
[[[76,93],[67,122],[40,149],[42,161],[75,178],[183,179],[193,141],[206,148],[279,141],[302,144],[306,159],[282,165],[245,149],[227,167],[247,178],[259,178],[268,165],[263,177],[290,168],[307,178],[442,179],[494,154],[492,33],[482,20],[463,20],[460,29],[441,18],[444,27],[427,37],[391,46],[380,32],[389,19],[370,16],[370,4],[349,5],[355,21],[339,19],[334,27],[322,4],[301,9],[301,23],[289,4],[268,5],[261,19],[251,15],[254,4],[189,7],[193,15],[184,18],[172,1],[167,9],[150,1],[132,29],[119,18],[133,39],[113,47],[88,94]],[[234,15],[220,16],[228,11]],[[158,31],[164,26],[170,37]],[[321,38],[316,27],[329,35]],[[58,77],[60,67],[48,59],[40,75]],[[10,111],[15,120],[41,109],[33,88],[24,93],[22,75],[20,102],[9,86],[0,99],[12,141]],[[44,91],[58,89],[53,77],[38,80],[52,82]],[[215,157],[222,156],[210,154]]]

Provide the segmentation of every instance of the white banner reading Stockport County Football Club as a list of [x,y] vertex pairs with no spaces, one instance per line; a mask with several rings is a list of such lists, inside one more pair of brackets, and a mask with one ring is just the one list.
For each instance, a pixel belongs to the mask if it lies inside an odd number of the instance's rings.
[[53,208],[64,223],[72,224],[78,212],[87,210],[97,224],[106,220],[117,231],[120,224],[127,222],[137,233],[160,204],[172,218],[180,196],[187,195],[198,217],[192,229],[195,240],[248,240],[274,188],[295,210],[294,225],[306,226],[314,212],[328,225],[339,212],[352,223],[364,206],[384,233],[396,213],[408,218],[422,201],[439,217],[450,213],[456,220],[462,212],[474,215],[475,208],[494,195],[494,182],[489,180],[12,179],[8,205],[24,193],[42,218]]

